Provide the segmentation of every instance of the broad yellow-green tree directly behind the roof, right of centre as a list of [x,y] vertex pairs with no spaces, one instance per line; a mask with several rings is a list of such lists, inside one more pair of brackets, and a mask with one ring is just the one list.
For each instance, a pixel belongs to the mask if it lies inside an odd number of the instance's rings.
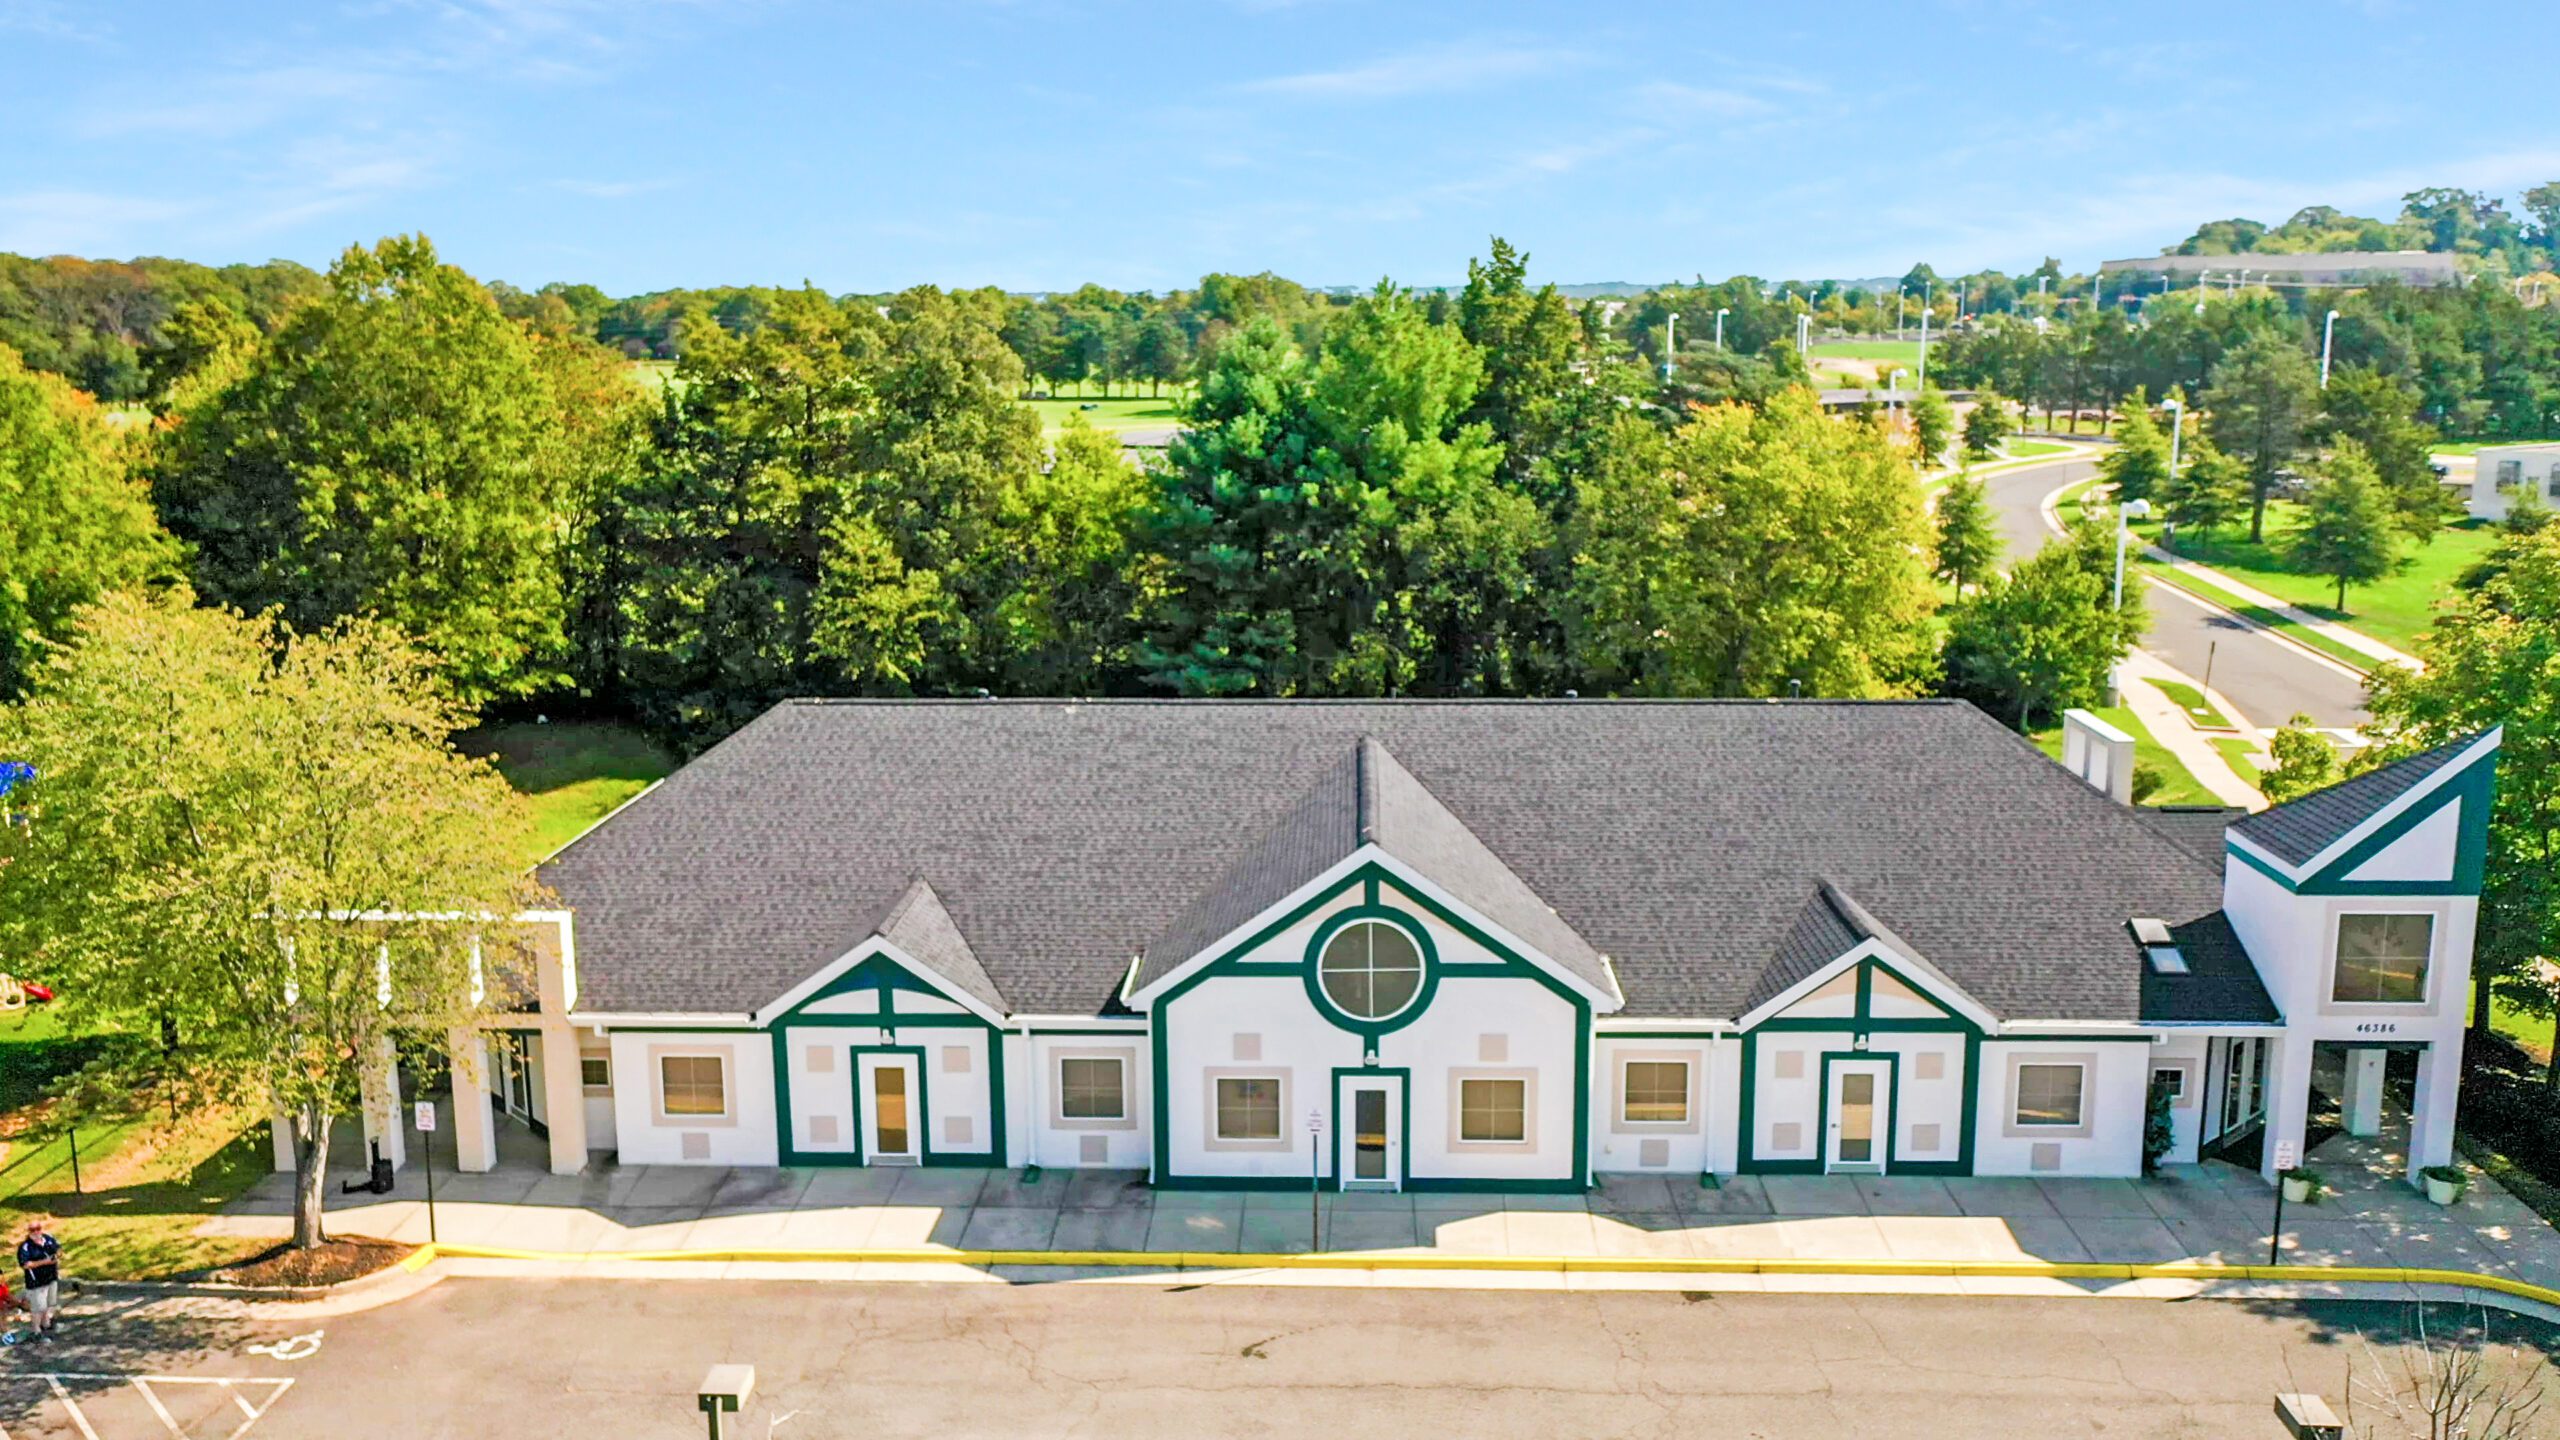
[[1590,687],[1889,697],[1933,679],[1910,466],[1807,389],[1674,433],[1620,418],[1574,515],[1569,633]]

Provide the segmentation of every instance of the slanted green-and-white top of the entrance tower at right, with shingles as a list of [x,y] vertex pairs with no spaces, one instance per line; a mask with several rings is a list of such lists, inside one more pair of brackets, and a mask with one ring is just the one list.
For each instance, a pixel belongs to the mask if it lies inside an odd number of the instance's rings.
[[2299,894],[2478,894],[2501,740],[2496,728],[2263,810],[2230,828],[2230,853]]

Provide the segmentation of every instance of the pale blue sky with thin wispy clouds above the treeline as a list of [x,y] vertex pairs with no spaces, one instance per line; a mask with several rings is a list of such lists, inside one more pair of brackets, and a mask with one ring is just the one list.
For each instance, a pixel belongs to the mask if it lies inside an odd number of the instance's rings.
[[[1129,290],[2071,269],[2560,179],[2527,3],[0,0],[0,251]],[[2532,41],[2527,41],[2532,36]]]

